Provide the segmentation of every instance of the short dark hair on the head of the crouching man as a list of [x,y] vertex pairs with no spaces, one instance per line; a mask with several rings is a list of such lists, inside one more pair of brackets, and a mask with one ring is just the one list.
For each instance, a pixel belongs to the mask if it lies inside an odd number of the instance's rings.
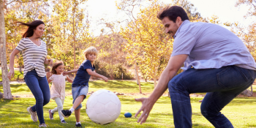
[[178,6],[167,6],[163,10],[158,12],[157,18],[159,18],[159,20],[162,20],[165,17],[168,17],[169,20],[172,20],[174,23],[176,23],[176,19],[178,17],[181,17],[182,21],[189,20],[187,12],[185,12],[182,7]]

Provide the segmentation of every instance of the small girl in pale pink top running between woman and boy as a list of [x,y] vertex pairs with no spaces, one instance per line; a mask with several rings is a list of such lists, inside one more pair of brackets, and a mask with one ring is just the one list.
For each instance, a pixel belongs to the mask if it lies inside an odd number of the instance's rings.
[[57,104],[56,108],[54,108],[53,110],[49,110],[49,117],[50,119],[53,119],[53,114],[58,111],[61,123],[66,124],[67,122],[64,121],[64,117],[61,116],[60,113],[63,109],[65,99],[65,79],[67,79],[69,83],[73,83],[73,80],[71,80],[67,75],[62,75],[62,72],[64,72],[63,61],[57,61],[53,64],[51,72],[47,73],[48,83],[52,82],[52,86],[50,88],[50,98],[54,99]]

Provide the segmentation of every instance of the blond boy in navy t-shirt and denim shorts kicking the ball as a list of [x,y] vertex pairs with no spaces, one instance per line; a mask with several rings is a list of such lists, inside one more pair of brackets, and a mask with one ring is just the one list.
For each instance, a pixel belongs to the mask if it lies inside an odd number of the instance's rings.
[[81,102],[83,102],[83,99],[86,99],[86,94],[88,93],[89,88],[88,83],[91,75],[97,78],[102,78],[105,80],[105,82],[108,82],[108,78],[93,72],[95,69],[93,64],[98,54],[97,49],[90,47],[84,50],[83,53],[86,56],[86,60],[83,61],[80,67],[78,69],[73,69],[72,71],[66,72],[66,74],[77,72],[72,83],[73,106],[69,110],[61,110],[61,115],[65,118],[69,117],[75,110],[75,127],[82,127],[80,124],[80,108],[82,108]]

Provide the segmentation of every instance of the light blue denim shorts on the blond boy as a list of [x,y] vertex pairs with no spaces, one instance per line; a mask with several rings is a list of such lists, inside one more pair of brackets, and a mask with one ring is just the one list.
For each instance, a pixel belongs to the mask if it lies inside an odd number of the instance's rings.
[[[75,99],[77,99],[79,96],[84,95],[86,96],[86,94],[88,93],[88,86],[75,86],[72,87],[72,97],[73,97],[73,104],[75,102]],[[86,99],[86,97],[84,97],[84,99]],[[78,105],[77,108],[75,108],[75,110],[78,110],[79,108],[82,108],[82,103],[80,105]]]

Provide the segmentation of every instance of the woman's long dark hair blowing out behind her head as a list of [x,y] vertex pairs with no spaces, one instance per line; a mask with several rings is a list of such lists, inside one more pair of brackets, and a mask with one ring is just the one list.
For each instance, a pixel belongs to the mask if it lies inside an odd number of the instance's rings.
[[34,29],[37,29],[37,26],[39,26],[41,24],[45,24],[41,20],[34,20],[31,23],[23,23],[23,22],[17,22],[17,23],[20,23],[20,25],[23,25],[23,26],[29,26],[29,28],[23,34],[22,38],[24,38],[24,37],[32,37],[33,34],[34,34]]

